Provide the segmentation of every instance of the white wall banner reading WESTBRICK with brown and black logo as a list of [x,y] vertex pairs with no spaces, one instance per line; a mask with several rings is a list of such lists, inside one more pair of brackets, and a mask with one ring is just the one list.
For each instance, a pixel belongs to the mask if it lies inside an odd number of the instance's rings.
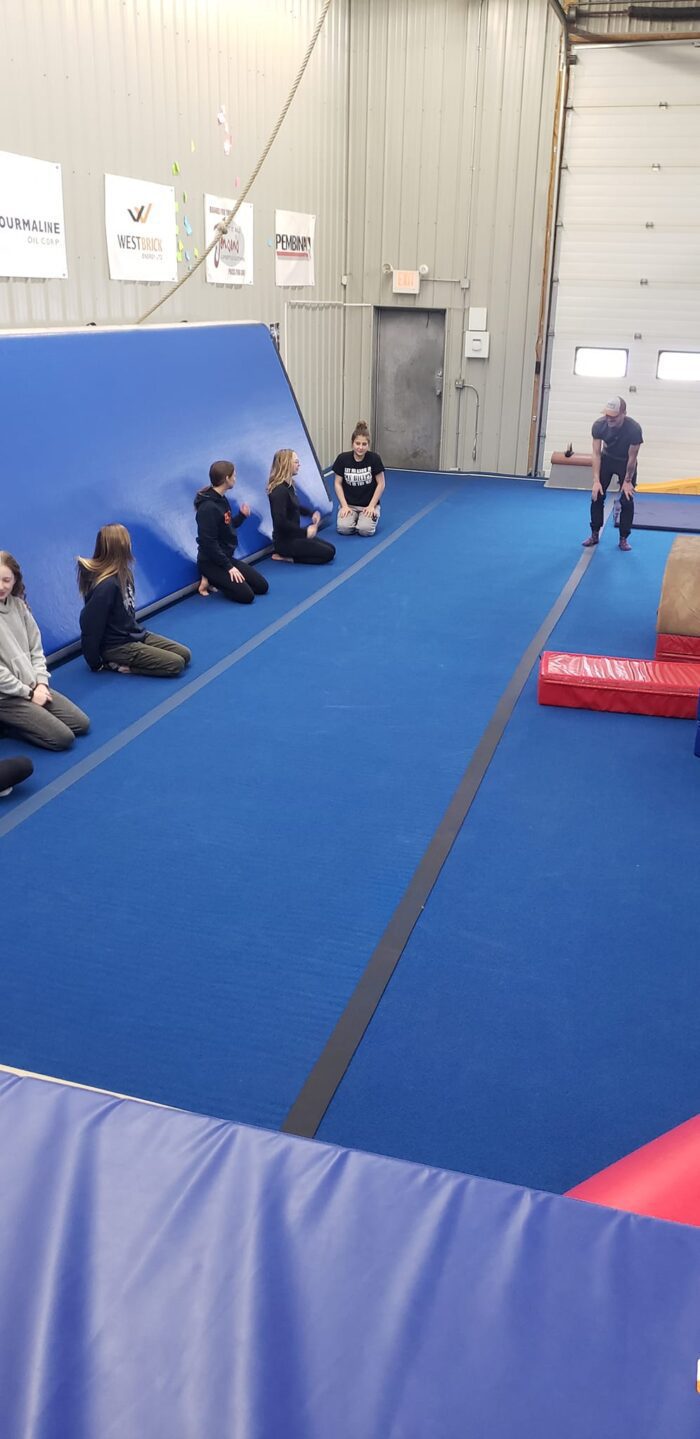
[[173,186],[105,176],[111,279],[177,279],[176,224]]

